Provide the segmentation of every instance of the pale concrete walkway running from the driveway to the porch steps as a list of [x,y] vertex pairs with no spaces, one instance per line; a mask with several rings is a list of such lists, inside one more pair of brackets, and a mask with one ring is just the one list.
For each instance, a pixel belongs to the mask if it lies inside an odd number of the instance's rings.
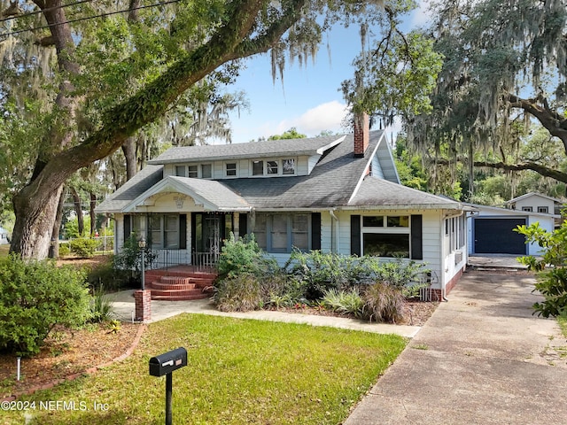
[[[132,321],[134,317],[133,290],[123,290],[108,297],[113,302],[113,317],[119,321]],[[181,313],[212,314],[215,316],[237,317],[259,321],[283,321],[289,323],[305,323],[312,326],[327,326],[330,328],[345,328],[373,332],[377,334],[395,334],[411,338],[417,334],[420,327],[407,325],[390,325],[370,323],[343,317],[318,316],[315,314],[283,313],[260,310],[246,313],[223,313],[208,299],[195,301],[151,301],[151,321],[162,321]]]

